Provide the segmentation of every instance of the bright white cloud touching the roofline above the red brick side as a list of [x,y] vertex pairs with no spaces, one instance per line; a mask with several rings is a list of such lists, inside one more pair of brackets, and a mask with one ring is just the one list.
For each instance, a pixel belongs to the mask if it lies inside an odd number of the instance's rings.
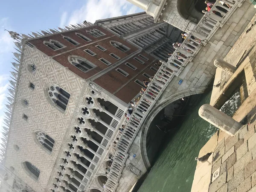
[[[138,8],[126,0],[87,0],[80,9],[74,10],[66,22],[66,12],[61,15],[61,24],[75,24],[87,20],[94,23],[96,20],[135,13]],[[63,26],[61,25],[61,26]]]

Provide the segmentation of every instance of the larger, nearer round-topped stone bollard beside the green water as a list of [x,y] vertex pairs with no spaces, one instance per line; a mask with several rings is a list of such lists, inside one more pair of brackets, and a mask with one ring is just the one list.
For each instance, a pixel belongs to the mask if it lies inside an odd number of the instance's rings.
[[198,111],[199,116],[222,131],[234,136],[241,128],[241,124],[232,117],[219,111],[209,104],[204,104]]

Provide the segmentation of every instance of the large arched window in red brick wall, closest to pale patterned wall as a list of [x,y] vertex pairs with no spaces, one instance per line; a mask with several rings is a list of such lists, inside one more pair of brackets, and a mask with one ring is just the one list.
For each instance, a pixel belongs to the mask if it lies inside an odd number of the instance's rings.
[[75,67],[77,67],[79,70],[83,72],[87,72],[88,70],[91,70],[94,67],[96,67],[96,65],[94,65],[87,59],[79,56],[69,56],[68,61],[70,62],[70,64],[73,64]]

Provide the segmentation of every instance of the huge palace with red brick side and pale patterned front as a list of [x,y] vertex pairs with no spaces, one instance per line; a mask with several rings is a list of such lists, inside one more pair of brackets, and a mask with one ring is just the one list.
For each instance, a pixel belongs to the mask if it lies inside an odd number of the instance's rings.
[[9,33],[18,52],[0,190],[102,192],[123,114],[180,31],[140,13],[33,36]]

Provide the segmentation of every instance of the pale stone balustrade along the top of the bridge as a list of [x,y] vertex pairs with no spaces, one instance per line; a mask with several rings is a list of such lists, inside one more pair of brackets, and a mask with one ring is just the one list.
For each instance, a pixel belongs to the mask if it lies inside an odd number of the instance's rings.
[[[219,26],[223,25],[228,20],[239,3],[241,3],[236,0],[222,1],[232,7],[227,8],[217,1],[212,6],[210,12],[207,12],[195,28],[188,33],[189,35],[173,52],[168,61],[163,61],[163,64],[159,67],[155,76],[152,77],[151,82],[148,84],[145,93],[134,108],[131,118],[128,120],[122,136],[117,143],[117,151],[113,157],[111,171],[108,175],[104,192],[114,192],[116,190],[122,175],[122,170],[125,167],[125,161],[128,158],[127,152],[140,130],[145,117],[148,115],[148,112],[154,107],[154,104],[157,102],[170,81],[172,81],[174,76],[178,76],[183,71],[184,67],[186,67],[192,58],[199,52],[202,45],[207,43]],[[219,10],[218,6],[223,9]],[[221,16],[219,16],[220,14]]]

